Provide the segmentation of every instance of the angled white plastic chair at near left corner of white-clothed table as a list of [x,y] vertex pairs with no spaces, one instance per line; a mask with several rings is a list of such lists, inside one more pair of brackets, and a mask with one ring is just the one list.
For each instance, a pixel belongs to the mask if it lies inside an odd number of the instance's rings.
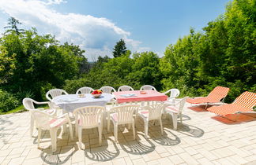
[[40,147],[40,139],[42,130],[50,130],[51,135],[51,148],[52,152],[56,151],[57,148],[57,130],[59,127],[62,127],[64,124],[69,124],[70,126],[70,136],[71,140],[73,140],[73,130],[70,122],[70,117],[68,114],[63,114],[62,116],[58,116],[53,118],[46,112],[41,112],[39,110],[32,110],[32,116],[36,122],[36,128],[38,129],[38,140],[37,145]]

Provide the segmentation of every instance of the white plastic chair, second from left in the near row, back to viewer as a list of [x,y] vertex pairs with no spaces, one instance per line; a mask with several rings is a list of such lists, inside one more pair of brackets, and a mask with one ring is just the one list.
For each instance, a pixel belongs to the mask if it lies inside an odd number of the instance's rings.
[[79,147],[81,146],[82,129],[98,127],[99,143],[102,142],[103,113],[105,108],[100,106],[88,106],[76,108],[73,111],[76,121],[76,135],[78,135]]

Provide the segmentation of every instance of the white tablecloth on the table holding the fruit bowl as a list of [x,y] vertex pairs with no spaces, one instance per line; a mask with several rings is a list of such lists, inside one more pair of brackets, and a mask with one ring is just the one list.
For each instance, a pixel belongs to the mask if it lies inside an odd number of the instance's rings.
[[73,112],[74,109],[85,106],[106,106],[108,101],[113,99],[111,94],[102,94],[100,98],[95,98],[92,94],[85,94],[85,97],[79,98],[77,94],[66,94],[54,97],[52,101],[66,112]]

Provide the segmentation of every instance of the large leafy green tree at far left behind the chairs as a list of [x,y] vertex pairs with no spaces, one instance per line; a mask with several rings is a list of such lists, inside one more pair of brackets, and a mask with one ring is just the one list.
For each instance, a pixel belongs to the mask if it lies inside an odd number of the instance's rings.
[[20,101],[26,96],[42,100],[47,90],[61,88],[66,79],[83,72],[87,60],[78,46],[61,45],[34,28],[19,34],[15,28],[8,31],[0,39],[0,85]]

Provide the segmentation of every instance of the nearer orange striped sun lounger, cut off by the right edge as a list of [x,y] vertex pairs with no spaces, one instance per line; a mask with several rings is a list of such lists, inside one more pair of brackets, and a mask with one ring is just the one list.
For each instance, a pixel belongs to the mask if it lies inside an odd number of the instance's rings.
[[254,106],[256,106],[256,94],[246,91],[237,97],[232,104],[213,106],[207,110],[219,116],[228,116],[235,113],[253,112]]

